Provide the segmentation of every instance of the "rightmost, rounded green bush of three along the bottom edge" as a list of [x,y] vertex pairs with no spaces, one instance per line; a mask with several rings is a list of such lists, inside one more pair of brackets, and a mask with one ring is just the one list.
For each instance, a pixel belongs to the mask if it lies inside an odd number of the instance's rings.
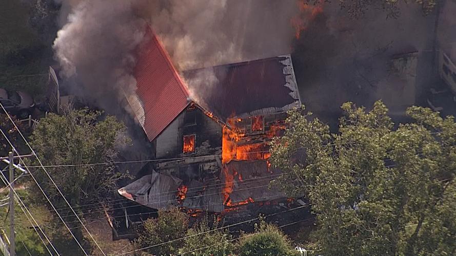
[[240,256],[298,255],[288,237],[276,226],[261,221],[255,232],[243,234],[237,248]]

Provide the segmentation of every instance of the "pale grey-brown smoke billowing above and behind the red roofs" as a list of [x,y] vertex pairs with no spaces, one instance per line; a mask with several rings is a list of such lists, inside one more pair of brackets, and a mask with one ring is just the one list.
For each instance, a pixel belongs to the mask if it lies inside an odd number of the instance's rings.
[[[62,0],[60,0],[62,1]],[[295,0],[66,0],[54,42],[72,91],[117,113],[134,95],[134,48],[151,24],[180,71],[291,52]],[[212,78],[211,78],[212,77]],[[198,81],[215,83],[203,72]],[[194,81],[188,81],[192,84]],[[206,90],[208,92],[210,90]]]

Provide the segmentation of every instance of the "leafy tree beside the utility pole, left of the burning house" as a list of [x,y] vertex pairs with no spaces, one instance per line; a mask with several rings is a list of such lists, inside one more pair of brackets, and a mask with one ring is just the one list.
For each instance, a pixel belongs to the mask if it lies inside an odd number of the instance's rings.
[[[74,110],[41,119],[31,145],[44,165],[70,165],[46,170],[72,206],[85,205],[108,199],[122,178],[112,161],[117,148],[128,143],[124,133],[124,124],[112,116]],[[98,162],[105,164],[84,165]],[[39,165],[36,160],[31,164]],[[42,168],[36,168],[34,176],[56,208],[68,207]],[[36,198],[43,201],[37,189]]]

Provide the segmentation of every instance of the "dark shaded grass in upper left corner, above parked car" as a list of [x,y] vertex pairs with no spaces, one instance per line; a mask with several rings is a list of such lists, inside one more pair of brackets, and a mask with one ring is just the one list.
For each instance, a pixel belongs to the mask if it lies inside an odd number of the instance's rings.
[[45,92],[52,49],[29,26],[29,11],[23,1],[0,3],[0,88],[36,97]]

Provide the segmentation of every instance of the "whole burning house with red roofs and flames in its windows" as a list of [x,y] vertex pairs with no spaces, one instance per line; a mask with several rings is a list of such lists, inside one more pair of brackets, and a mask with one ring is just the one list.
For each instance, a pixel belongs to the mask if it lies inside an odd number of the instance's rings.
[[156,162],[122,196],[210,212],[284,197],[268,189],[280,170],[267,143],[301,106],[290,55],[178,73],[149,30],[138,56],[137,98],[127,100]]

